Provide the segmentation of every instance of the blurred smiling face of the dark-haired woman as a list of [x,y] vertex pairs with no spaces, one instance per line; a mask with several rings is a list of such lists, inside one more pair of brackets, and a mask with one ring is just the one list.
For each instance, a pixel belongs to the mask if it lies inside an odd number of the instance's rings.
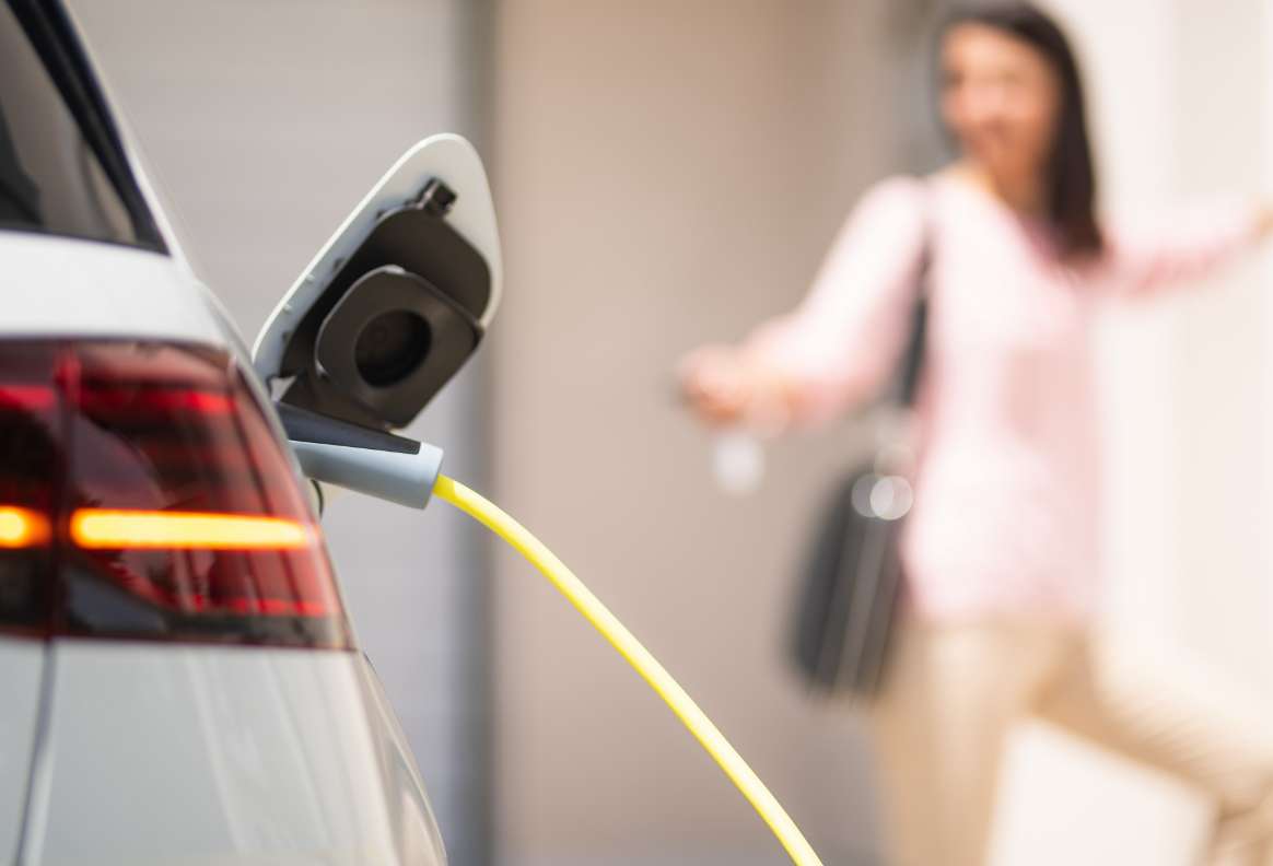
[[1046,167],[1060,103],[1049,60],[984,24],[956,24],[942,41],[942,120],[966,158],[1002,182]]

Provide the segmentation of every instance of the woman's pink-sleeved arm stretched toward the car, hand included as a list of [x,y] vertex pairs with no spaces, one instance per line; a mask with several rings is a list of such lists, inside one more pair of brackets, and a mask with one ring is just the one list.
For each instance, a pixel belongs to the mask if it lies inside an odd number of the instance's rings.
[[869,399],[904,348],[925,243],[925,183],[892,178],[862,199],[805,301],[738,345],[681,363],[682,388],[714,423],[782,427]]

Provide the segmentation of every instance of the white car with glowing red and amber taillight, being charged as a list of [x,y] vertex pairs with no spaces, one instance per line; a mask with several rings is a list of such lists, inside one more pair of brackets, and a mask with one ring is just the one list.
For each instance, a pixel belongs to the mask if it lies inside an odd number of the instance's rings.
[[443,863],[260,364],[57,3],[0,5],[0,861]]

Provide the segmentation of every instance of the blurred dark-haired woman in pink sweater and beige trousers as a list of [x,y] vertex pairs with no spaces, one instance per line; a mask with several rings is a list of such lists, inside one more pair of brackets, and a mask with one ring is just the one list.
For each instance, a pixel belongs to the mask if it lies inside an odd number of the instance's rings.
[[1220,804],[1211,856],[1263,862],[1273,720],[1221,720],[1176,681],[1095,664],[1088,337],[1101,298],[1208,274],[1269,234],[1270,211],[1217,210],[1156,237],[1102,225],[1076,61],[1029,4],[955,14],[939,69],[957,159],[872,188],[803,304],[741,345],[693,353],[685,392],[713,424],[859,405],[894,369],[923,279],[905,610],[871,709],[892,862],[983,862],[1004,737],[1022,713],[1200,786]]

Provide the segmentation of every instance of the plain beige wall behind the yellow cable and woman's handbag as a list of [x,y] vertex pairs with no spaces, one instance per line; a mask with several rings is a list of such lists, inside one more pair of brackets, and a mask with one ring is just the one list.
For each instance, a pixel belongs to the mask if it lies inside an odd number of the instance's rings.
[[[689,348],[793,304],[894,169],[899,3],[510,0],[496,20],[500,502],[701,702],[820,843],[873,846],[861,734],[803,699],[783,633],[806,518],[852,451],[782,444],[763,495],[708,475]],[[908,57],[909,53],[899,53]],[[500,554],[499,847],[509,863],[778,862],[622,661]]]

